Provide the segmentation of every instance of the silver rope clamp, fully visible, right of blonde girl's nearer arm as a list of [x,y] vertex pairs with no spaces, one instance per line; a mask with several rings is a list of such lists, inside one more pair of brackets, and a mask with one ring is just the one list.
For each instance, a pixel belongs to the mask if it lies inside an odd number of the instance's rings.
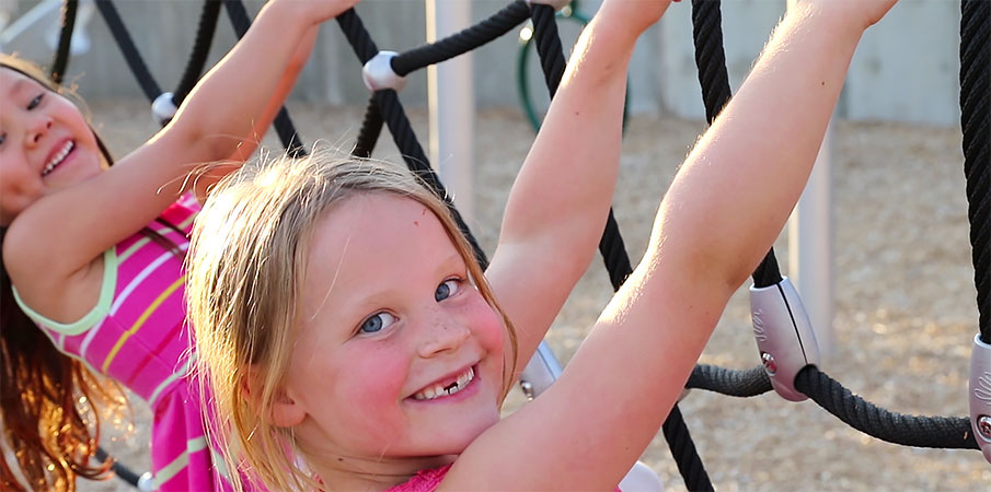
[[785,277],[775,285],[751,285],[750,317],[771,386],[788,401],[808,399],[795,389],[795,376],[806,365],[819,364],[819,344],[792,281]]

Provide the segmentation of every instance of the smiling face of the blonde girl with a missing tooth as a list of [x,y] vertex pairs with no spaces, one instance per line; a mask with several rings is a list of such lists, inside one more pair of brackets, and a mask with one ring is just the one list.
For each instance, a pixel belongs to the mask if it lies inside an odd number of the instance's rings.
[[498,421],[504,327],[429,209],[346,199],[318,223],[303,285],[277,407],[316,460],[458,454]]

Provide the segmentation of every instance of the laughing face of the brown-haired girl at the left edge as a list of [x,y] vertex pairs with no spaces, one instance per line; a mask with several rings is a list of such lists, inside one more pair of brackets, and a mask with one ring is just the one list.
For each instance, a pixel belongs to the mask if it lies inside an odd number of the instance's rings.
[[0,225],[103,171],[96,137],[69,99],[0,68]]

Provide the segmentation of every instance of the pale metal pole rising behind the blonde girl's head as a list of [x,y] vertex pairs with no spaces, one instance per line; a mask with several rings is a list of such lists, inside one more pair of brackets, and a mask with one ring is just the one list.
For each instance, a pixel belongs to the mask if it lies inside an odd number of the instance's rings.
[[[425,0],[427,43],[471,25],[471,3]],[[427,68],[430,161],[469,224],[474,216],[475,92],[471,51]]]

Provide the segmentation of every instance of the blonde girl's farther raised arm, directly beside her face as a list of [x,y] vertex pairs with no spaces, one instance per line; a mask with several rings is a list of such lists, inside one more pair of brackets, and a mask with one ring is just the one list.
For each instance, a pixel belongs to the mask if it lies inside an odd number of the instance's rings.
[[626,68],[668,4],[602,5],[512,185],[486,278],[519,335],[516,375],[596,254],[619,171]]

